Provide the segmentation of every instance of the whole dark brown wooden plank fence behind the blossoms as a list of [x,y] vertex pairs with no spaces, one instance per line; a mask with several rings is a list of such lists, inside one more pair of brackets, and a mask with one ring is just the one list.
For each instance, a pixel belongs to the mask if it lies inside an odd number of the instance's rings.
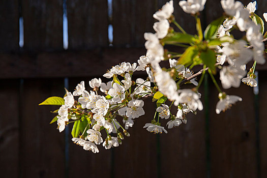
[[[206,78],[204,110],[189,114],[187,125],[168,134],[142,128],[154,112],[146,101],[146,114],[129,129],[131,137],[115,149],[101,147],[99,154],[84,151],[49,125],[55,107],[38,103],[63,96],[64,86],[73,91],[78,82],[100,77],[112,65],[136,62],[145,54],[143,33],[153,32],[152,15],[165,2],[113,0],[110,15],[107,0],[0,1],[0,177],[267,177],[266,65],[257,67],[259,94],[244,84],[227,90],[243,102],[219,115],[217,91]],[[204,26],[222,13],[218,0],[207,0],[205,7]],[[266,1],[258,1],[261,17],[266,7]],[[195,33],[194,18],[176,0],[174,8],[176,20]],[[24,45],[19,47],[22,17]]]

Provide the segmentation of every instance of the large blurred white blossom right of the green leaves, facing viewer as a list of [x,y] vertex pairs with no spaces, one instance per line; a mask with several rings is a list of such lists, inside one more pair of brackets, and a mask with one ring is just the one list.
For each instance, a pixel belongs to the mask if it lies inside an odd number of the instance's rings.
[[245,47],[246,44],[244,40],[239,40],[222,48],[230,65],[241,66],[252,59],[253,52]]

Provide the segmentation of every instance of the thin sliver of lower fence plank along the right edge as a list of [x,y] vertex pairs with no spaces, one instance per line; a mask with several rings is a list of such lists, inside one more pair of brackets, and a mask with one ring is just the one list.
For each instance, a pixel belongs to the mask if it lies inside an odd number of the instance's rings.
[[266,113],[266,101],[267,101],[267,82],[266,72],[259,72],[259,152],[260,152],[260,173],[261,177],[267,177],[267,113]]

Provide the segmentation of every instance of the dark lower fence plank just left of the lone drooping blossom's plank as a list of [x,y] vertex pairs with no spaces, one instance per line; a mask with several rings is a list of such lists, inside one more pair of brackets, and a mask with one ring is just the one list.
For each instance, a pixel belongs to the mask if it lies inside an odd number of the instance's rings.
[[[201,101],[204,104],[202,91],[200,88]],[[171,107],[171,113],[176,115],[175,106]],[[186,125],[173,129],[167,129],[167,121],[161,120],[161,125],[168,131],[168,134],[160,135],[161,177],[206,176],[204,110],[197,111],[197,115],[188,113],[186,117]]]

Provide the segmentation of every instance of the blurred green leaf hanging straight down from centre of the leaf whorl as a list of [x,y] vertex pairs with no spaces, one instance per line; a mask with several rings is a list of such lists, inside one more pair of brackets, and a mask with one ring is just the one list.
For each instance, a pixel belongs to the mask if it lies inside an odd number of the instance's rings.
[[214,66],[216,63],[216,53],[212,49],[201,52],[199,57],[203,64],[209,67],[213,73],[216,73],[216,68]]

